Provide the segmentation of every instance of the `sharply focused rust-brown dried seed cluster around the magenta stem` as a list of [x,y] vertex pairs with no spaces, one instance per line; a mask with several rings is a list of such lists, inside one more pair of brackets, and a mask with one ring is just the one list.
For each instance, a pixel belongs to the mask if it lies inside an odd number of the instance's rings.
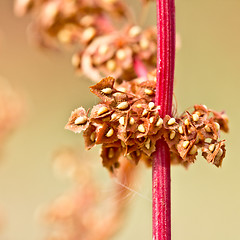
[[119,167],[122,155],[135,164],[144,160],[151,165],[156,141],[162,137],[173,162],[194,162],[201,149],[208,162],[219,167],[225,156],[224,141],[218,142],[219,130],[228,131],[225,113],[195,105],[192,113],[162,119],[154,104],[156,82],[154,75],[152,78],[123,81],[117,88],[114,78],[102,79],[90,87],[102,102],[90,115],[82,107],[73,111],[66,128],[75,133],[84,131],[87,149],[102,144],[102,162],[111,172]]

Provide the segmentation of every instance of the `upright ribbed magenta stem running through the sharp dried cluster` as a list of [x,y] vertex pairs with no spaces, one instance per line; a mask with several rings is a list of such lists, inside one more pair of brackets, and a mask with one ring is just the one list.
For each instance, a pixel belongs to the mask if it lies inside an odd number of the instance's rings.
[[[156,105],[160,116],[172,114],[175,67],[174,0],[157,0],[157,86]],[[171,239],[170,152],[166,142],[157,142],[153,159],[153,240]]]

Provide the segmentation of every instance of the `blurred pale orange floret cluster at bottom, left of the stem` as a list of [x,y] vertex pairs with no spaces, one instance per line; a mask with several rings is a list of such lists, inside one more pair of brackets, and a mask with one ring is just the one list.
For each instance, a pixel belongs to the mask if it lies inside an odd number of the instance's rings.
[[[119,184],[114,184],[106,196],[93,178],[92,169],[82,156],[72,149],[63,149],[54,159],[55,169],[67,174],[75,184],[71,192],[58,197],[42,213],[48,226],[46,240],[107,240],[122,223],[129,194]],[[134,168],[122,159],[117,179],[128,185]],[[105,201],[103,201],[105,200]]]

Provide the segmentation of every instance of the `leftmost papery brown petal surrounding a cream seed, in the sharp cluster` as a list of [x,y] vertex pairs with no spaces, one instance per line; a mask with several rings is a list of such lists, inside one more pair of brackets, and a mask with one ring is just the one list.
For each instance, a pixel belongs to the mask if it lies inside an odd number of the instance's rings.
[[[75,120],[78,117],[85,117],[86,122],[84,124],[75,124]],[[89,120],[87,117],[87,112],[83,107],[75,109],[68,120],[68,123],[65,126],[65,129],[68,129],[70,131],[73,131],[75,133],[80,133],[81,131],[87,129],[89,125]]]

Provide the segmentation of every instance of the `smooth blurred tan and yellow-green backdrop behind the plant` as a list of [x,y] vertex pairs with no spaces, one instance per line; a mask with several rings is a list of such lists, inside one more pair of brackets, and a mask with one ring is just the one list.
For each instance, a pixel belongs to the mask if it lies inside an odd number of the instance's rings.
[[[134,4],[139,10],[138,1]],[[176,58],[178,111],[197,103],[225,109],[230,133],[222,135],[227,140],[222,168],[201,157],[187,171],[172,167],[172,239],[240,239],[240,1],[178,0],[176,10],[182,41]],[[155,21],[154,6],[147,21]],[[81,136],[63,128],[73,109],[97,102],[88,90],[92,83],[75,76],[69,54],[28,44],[28,23],[28,17],[13,16],[12,1],[0,1],[0,76],[21,89],[28,105],[25,121],[8,139],[0,164],[3,240],[43,239],[45,229],[36,219],[36,209],[70,186],[54,176],[52,153],[66,145],[83,149]],[[98,150],[87,154],[93,158]],[[100,160],[95,162],[106,177]],[[151,239],[151,202],[146,199],[151,198],[150,169],[141,167],[135,185],[144,197],[130,196],[125,224],[114,240]]]

